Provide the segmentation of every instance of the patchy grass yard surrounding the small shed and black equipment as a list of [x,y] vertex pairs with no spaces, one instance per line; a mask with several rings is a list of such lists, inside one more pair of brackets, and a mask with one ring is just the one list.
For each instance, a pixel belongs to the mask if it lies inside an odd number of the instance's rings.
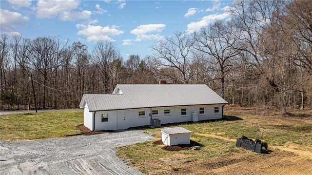
[[[127,164],[135,167],[138,171],[146,174],[192,174],[198,172],[199,174],[200,172],[202,172],[202,174],[208,172],[211,174],[215,172],[217,172],[216,174],[233,174],[234,172],[227,169],[222,170],[222,168],[218,167],[217,169],[221,169],[220,172],[218,172],[219,170],[212,167],[214,167],[215,164],[226,167],[236,161],[242,163],[240,161],[248,159],[249,156],[261,156],[260,154],[235,147],[235,139],[245,135],[253,139],[259,138],[268,143],[269,150],[272,151],[270,156],[261,157],[259,160],[268,159],[268,163],[270,163],[269,160],[271,159],[276,164],[276,169],[281,168],[280,172],[284,171],[283,166],[285,162],[291,161],[293,159],[292,156],[297,156],[293,152],[286,153],[280,149],[293,149],[296,151],[295,153],[298,154],[300,154],[302,150],[302,154],[306,154],[304,156],[308,156],[309,158],[307,162],[311,163],[311,110],[304,112],[293,111],[296,115],[292,117],[280,116],[277,110],[271,110],[269,113],[266,113],[260,109],[252,110],[250,108],[244,109],[240,107],[227,107],[225,112],[226,115],[232,116],[230,118],[234,120],[178,125],[193,132],[191,134],[191,139],[203,145],[198,151],[165,151],[161,149],[163,145],[154,145],[152,144],[153,141],[151,141],[119,147],[117,149],[117,156],[121,157]],[[146,129],[144,131],[156,136],[156,140],[161,139],[159,128]],[[239,160],[236,160],[237,157],[240,157]],[[258,159],[250,161],[257,162]],[[246,162],[242,164],[244,166],[246,164],[247,166],[250,161],[246,160]],[[305,167],[305,161],[306,159],[298,162],[302,167]],[[211,165],[207,162],[210,162]],[[273,164],[273,162],[271,163]],[[269,164],[265,164],[265,161],[258,162],[258,164],[262,164],[264,167],[272,167]],[[254,165],[250,166],[250,169],[253,169]],[[299,165],[290,164],[289,172],[292,171],[292,167],[296,166]],[[235,167],[231,169],[234,170]],[[270,168],[268,170],[270,170]],[[293,173],[296,174],[298,172]],[[250,174],[250,172],[245,171],[245,174]]]

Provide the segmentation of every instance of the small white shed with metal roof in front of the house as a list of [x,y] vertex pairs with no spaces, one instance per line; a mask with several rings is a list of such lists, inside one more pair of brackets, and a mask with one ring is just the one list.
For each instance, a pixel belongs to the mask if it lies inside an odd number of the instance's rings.
[[190,144],[191,131],[182,128],[164,128],[161,131],[161,141],[167,146]]

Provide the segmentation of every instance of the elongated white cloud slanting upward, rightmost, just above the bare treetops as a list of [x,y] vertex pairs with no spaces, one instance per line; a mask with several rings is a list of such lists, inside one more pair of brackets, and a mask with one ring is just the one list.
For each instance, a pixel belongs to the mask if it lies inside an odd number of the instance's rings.
[[212,14],[212,15],[205,16],[205,17],[201,18],[200,21],[191,22],[191,23],[187,24],[186,32],[187,33],[193,33],[193,32],[199,31],[200,28],[206,27],[207,25],[209,25],[214,20],[216,20],[216,19],[219,19],[219,20],[227,19],[229,16],[230,16],[229,13]]

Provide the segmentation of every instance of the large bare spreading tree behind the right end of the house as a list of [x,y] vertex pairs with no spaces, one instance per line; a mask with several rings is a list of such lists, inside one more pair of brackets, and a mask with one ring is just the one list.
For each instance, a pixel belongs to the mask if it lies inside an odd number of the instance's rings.
[[207,28],[202,28],[194,35],[194,48],[207,54],[206,60],[212,66],[212,70],[220,73],[215,79],[221,80],[221,97],[224,97],[224,84],[226,73],[230,71],[231,60],[240,53],[234,45],[234,29],[229,23],[215,21]]

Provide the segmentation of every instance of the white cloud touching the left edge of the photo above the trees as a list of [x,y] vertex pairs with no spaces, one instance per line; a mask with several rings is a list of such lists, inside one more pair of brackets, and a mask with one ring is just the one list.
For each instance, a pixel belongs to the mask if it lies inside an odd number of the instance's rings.
[[0,9],[0,26],[1,32],[14,31],[16,25],[26,25],[28,22],[27,16],[22,16],[20,13],[11,12],[5,9]]

